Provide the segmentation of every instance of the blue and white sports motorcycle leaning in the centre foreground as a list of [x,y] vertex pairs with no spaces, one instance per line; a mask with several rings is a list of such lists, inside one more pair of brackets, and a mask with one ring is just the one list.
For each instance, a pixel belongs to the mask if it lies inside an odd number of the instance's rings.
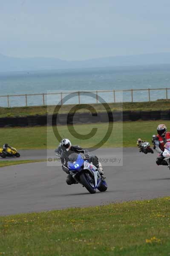
[[81,183],[91,194],[98,189],[101,192],[107,190],[107,183],[104,177],[98,172],[98,169],[81,154],[74,154],[76,157],[69,157],[69,173],[78,183]]

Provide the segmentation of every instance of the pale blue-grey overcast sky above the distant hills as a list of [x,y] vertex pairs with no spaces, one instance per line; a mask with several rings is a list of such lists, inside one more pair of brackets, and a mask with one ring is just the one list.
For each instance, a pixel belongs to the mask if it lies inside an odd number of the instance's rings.
[[0,0],[0,53],[85,60],[170,52],[170,0]]

